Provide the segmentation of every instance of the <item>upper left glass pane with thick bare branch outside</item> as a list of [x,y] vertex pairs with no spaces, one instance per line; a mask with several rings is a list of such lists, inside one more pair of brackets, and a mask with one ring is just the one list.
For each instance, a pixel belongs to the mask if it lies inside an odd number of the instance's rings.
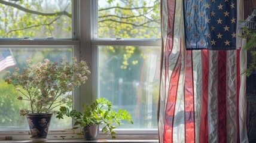
[[72,38],[71,0],[0,1],[0,38]]

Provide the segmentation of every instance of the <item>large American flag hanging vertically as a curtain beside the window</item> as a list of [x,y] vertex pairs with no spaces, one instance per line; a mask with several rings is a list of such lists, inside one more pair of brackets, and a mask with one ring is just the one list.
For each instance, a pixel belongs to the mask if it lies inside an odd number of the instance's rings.
[[161,0],[159,142],[248,142],[242,6]]

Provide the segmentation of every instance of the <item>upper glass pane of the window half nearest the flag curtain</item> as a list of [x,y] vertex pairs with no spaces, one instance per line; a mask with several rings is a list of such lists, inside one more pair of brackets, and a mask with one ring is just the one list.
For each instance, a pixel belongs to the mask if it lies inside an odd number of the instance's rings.
[[160,38],[160,0],[98,2],[99,38]]

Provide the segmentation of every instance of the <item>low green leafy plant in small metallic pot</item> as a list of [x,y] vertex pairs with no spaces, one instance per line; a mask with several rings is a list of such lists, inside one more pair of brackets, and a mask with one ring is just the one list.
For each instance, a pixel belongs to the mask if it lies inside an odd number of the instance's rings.
[[63,116],[66,115],[74,119],[74,129],[82,128],[85,139],[97,139],[99,125],[103,125],[103,133],[108,133],[112,139],[116,139],[115,125],[120,126],[121,120],[127,120],[133,124],[132,116],[126,110],[120,108],[118,112],[113,111],[111,102],[106,98],[99,98],[91,105],[82,105],[82,107],[83,113],[77,110],[69,111],[67,107],[60,107],[56,117],[63,119]]

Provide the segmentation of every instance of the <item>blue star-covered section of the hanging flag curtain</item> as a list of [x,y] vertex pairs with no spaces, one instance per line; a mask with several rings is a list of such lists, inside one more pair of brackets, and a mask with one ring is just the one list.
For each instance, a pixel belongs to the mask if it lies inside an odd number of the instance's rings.
[[236,0],[184,1],[187,49],[236,49]]

